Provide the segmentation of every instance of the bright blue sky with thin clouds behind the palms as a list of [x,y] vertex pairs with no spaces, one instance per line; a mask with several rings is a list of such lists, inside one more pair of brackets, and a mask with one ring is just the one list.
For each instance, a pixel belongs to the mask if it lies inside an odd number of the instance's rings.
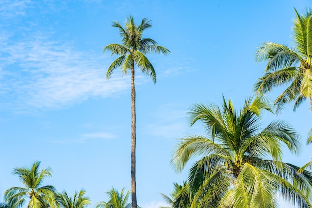
[[[106,201],[115,187],[130,190],[130,76],[106,70],[115,57],[103,54],[120,43],[112,20],[132,14],[153,27],[145,37],[168,48],[149,55],[157,83],[140,73],[137,89],[137,192],[143,208],[164,205],[173,182],[186,179],[169,165],[177,138],[203,134],[189,127],[188,108],[219,103],[222,93],[239,109],[252,95],[264,63],[254,53],[264,41],[292,46],[294,7],[309,0],[0,0],[0,193],[21,186],[15,167],[40,160],[50,166],[46,180],[59,191],[84,188],[92,206]],[[272,99],[280,91],[270,94]],[[285,151],[284,161],[302,166],[312,155],[305,146],[312,127],[309,103],[295,113],[266,114],[264,122],[283,119],[302,135],[299,157]],[[281,206],[283,203],[281,202]]]

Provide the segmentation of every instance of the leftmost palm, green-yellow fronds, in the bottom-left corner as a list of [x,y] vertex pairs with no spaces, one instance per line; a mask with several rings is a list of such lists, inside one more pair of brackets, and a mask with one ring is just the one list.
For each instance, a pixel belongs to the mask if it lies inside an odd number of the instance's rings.
[[55,188],[51,185],[40,187],[45,178],[51,177],[51,168],[44,168],[40,171],[39,165],[40,161],[36,161],[31,168],[14,168],[12,173],[19,177],[25,187],[12,187],[5,191],[4,200],[11,208],[22,207],[27,198],[29,198],[27,208],[50,208],[54,206]]

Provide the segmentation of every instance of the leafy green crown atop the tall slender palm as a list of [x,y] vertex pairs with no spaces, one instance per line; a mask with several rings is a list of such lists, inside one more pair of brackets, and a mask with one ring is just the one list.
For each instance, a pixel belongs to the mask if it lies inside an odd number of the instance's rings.
[[134,64],[137,64],[142,73],[149,75],[156,83],[155,69],[145,55],[149,53],[167,54],[170,51],[163,46],[157,45],[157,42],[151,38],[143,38],[144,30],[152,27],[150,22],[147,18],[143,18],[141,24],[137,25],[133,16],[129,15],[124,28],[118,21],[113,21],[112,26],[119,29],[122,44],[109,44],[104,48],[104,52],[109,50],[112,55],[119,55],[109,66],[106,74],[107,78],[112,76],[114,69],[117,67],[121,67],[122,72],[127,74],[128,70],[134,67]]

